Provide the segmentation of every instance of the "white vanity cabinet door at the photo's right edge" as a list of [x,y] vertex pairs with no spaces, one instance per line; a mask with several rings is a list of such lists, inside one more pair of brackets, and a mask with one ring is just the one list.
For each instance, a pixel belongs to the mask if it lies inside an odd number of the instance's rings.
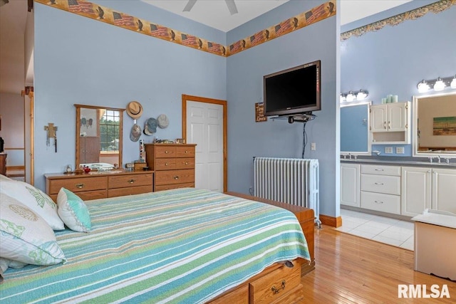
[[455,169],[432,169],[432,209],[456,213]]

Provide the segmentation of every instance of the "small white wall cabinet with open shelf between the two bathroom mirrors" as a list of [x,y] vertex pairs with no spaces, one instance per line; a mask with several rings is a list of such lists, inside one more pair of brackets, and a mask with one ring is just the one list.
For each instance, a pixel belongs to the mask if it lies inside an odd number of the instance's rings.
[[371,105],[372,142],[410,144],[410,102]]

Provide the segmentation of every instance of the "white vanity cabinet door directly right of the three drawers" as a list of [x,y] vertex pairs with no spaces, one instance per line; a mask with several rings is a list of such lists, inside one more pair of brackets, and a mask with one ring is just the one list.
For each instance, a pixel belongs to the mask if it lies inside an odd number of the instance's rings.
[[402,167],[400,214],[416,216],[431,207],[431,170]]

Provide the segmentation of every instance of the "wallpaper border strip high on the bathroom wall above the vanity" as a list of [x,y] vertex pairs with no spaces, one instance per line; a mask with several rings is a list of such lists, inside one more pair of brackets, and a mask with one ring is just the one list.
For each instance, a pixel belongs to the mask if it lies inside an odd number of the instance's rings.
[[415,20],[420,17],[425,16],[427,13],[434,13],[438,14],[442,11],[450,9],[451,6],[456,5],[456,0],[440,0],[433,4],[428,4],[426,6],[420,7],[418,9],[413,9],[411,11],[406,11],[403,14],[398,14],[396,16],[392,16],[387,19],[383,19],[374,23],[370,23],[366,26],[361,26],[359,28],[355,28],[351,31],[346,31],[341,33],[341,41],[347,40],[353,36],[359,37],[364,35],[365,33],[371,31],[378,31],[381,28],[389,25],[389,26],[397,26],[399,23],[403,23],[407,20]]

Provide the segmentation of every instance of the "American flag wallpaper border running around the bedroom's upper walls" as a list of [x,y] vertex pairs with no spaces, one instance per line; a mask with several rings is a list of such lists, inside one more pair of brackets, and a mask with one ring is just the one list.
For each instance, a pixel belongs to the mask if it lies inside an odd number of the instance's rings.
[[[100,6],[95,3],[91,3],[83,0],[35,0],[38,3],[45,4],[47,6],[54,7],[56,9],[62,9],[73,14],[85,16],[90,19],[109,23],[113,26],[128,29],[130,31],[136,31],[147,36],[154,38],[160,38],[166,41],[195,48],[199,51],[206,51],[214,55],[219,56],[232,56],[236,53],[246,50],[247,48],[253,48],[261,43],[270,41],[274,38],[284,36],[287,33],[296,31],[299,28],[304,28],[312,23],[316,23],[328,17],[336,14],[336,1],[330,0],[320,6],[316,6],[309,11],[305,11],[297,16],[291,17],[282,21],[279,24],[271,26],[254,33],[254,35],[239,40],[229,47],[223,46],[220,43],[207,41],[204,38],[183,33],[181,31],[161,26],[160,24],[145,21],[128,14],[123,14],[120,11],[115,11],[105,6]],[[456,0],[455,0],[456,1]]]

